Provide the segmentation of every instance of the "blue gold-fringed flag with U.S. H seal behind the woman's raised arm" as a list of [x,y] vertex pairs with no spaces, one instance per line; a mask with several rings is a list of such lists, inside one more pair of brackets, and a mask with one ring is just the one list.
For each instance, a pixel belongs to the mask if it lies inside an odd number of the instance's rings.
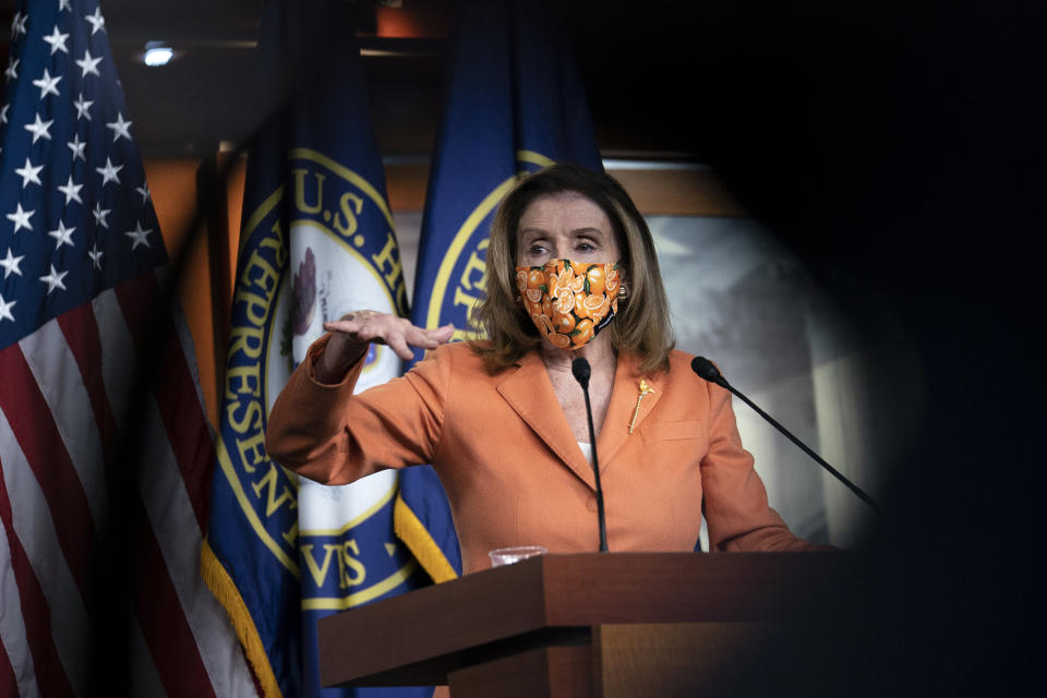
[[[428,698],[430,687],[318,685],[320,617],[430,583],[394,534],[398,473],[324,486],[264,450],[269,408],[325,321],[359,309],[407,314],[349,11],[335,0],[267,9],[267,75],[294,89],[248,163],[204,571],[266,696]],[[365,362],[357,390],[402,368],[381,346]]]

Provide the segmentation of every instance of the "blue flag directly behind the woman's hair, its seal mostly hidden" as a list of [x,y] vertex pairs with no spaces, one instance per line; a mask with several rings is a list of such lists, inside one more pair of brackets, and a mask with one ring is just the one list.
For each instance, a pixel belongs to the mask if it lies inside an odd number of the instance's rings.
[[[456,340],[481,336],[470,313],[483,297],[494,210],[521,173],[554,161],[603,167],[564,36],[543,2],[462,3],[422,220],[416,325],[454,323]],[[413,514],[460,574],[442,495],[432,468],[410,468],[398,513]]]

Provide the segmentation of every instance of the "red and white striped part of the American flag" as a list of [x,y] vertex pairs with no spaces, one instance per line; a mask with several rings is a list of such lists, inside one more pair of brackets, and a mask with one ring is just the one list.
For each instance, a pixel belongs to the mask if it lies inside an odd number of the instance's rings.
[[[135,543],[134,695],[256,695],[200,575],[214,446],[188,332],[177,313],[158,316],[158,292],[148,275],[0,350],[0,696],[88,691],[96,624],[127,622],[92,617],[93,565],[120,492],[137,495],[121,503],[133,535],[120,532]],[[135,393],[146,351],[157,378]],[[119,471],[128,416],[144,430],[136,473]],[[136,493],[119,486],[132,477]]]

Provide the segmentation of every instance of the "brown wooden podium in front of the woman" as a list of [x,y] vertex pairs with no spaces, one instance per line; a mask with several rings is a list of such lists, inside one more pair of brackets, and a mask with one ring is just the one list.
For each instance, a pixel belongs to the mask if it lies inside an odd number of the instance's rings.
[[321,683],[448,684],[453,698],[731,693],[748,651],[803,613],[847,558],[532,557],[321,619]]

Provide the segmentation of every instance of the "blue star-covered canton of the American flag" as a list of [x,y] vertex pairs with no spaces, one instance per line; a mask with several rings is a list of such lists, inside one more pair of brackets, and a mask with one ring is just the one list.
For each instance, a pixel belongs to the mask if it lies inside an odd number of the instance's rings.
[[97,10],[17,3],[0,104],[0,349],[167,263],[109,37],[80,16]]

